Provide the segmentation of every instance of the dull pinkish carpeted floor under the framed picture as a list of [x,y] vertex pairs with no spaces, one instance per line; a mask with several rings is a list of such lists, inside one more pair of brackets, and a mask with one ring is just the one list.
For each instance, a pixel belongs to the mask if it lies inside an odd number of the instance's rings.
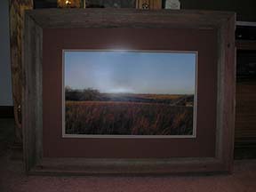
[[236,160],[234,173],[214,176],[48,177],[26,176],[22,162],[0,157],[1,192],[255,192],[256,160]]

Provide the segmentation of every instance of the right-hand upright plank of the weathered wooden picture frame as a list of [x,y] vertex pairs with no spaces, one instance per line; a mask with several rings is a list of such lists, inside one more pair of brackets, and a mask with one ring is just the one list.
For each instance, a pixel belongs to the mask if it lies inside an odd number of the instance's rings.
[[236,15],[228,18],[219,30],[217,148],[226,170],[232,171],[235,127],[235,28]]

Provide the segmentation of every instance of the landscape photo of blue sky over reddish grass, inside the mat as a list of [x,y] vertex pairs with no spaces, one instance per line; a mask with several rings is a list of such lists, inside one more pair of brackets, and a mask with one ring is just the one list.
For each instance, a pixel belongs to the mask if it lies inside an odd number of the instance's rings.
[[63,129],[79,136],[192,136],[196,52],[64,51]]

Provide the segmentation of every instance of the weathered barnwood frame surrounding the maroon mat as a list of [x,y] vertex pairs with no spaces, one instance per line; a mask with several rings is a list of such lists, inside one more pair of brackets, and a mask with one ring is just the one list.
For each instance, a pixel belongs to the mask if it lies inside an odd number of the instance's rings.
[[[27,11],[23,49],[22,127],[28,174],[170,174],[231,172],[235,125],[234,12],[132,9]],[[214,157],[159,159],[45,158],[43,156],[44,28],[212,28],[218,33],[216,151]],[[204,144],[203,144],[204,145]]]

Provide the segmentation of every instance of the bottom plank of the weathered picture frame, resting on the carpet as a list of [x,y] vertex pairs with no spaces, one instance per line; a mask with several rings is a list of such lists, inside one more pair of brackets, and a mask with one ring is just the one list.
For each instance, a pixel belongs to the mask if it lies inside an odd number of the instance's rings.
[[[223,172],[223,164],[215,158],[172,159],[99,159],[44,158],[30,174],[55,175],[170,175],[198,172]],[[172,172],[170,172],[172,170]]]

